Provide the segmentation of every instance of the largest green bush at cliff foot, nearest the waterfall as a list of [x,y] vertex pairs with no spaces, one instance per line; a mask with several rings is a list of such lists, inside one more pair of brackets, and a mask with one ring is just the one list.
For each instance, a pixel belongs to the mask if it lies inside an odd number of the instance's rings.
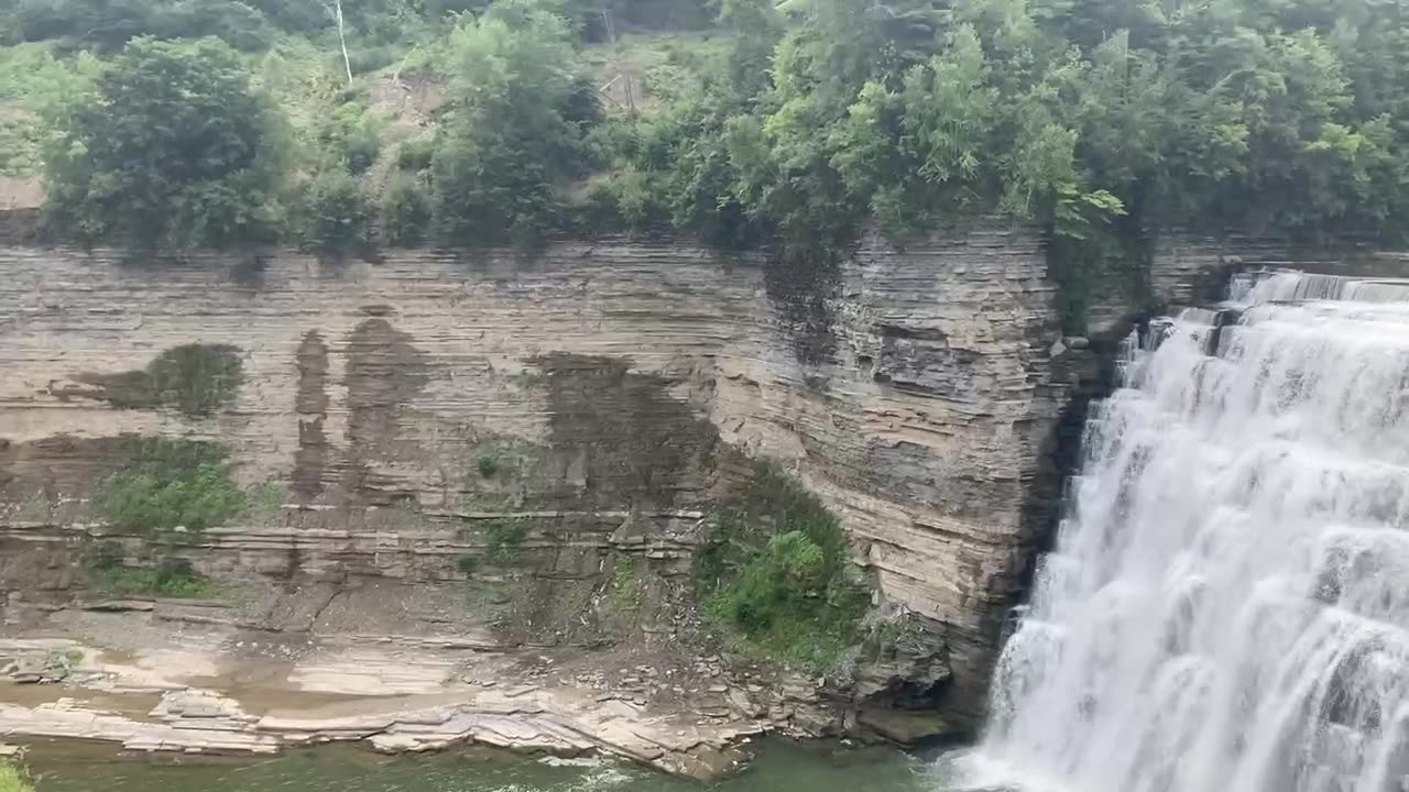
[[712,523],[695,572],[706,620],[741,650],[831,671],[862,638],[871,589],[841,524],[772,465]]

